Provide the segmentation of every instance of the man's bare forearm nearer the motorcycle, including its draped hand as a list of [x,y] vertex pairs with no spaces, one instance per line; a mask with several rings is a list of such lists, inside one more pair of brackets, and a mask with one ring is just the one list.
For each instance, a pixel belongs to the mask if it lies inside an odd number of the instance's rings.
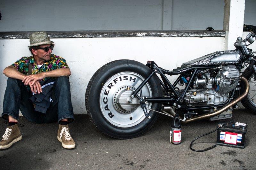
[[34,85],[36,81],[41,80],[45,77],[60,77],[60,76],[70,76],[70,75],[71,75],[71,72],[69,68],[58,68],[48,72],[41,72],[37,74],[28,75],[22,80],[22,82],[24,82],[25,85],[28,85],[28,83],[32,81],[31,85]]

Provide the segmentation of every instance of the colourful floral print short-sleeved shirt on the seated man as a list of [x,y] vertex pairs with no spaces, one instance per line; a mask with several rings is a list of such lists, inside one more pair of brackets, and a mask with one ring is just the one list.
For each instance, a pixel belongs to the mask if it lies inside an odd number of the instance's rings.
[[[34,57],[32,57],[30,60],[28,59],[28,57],[22,57],[15,63],[13,63],[12,66],[16,67],[20,73],[28,75],[29,64],[32,64],[32,74],[47,72],[58,68],[68,68],[66,60],[60,56],[55,56],[54,54],[52,54],[51,59],[49,61],[45,61],[43,66],[41,66],[40,68],[37,67]],[[55,79],[56,77],[45,77],[40,81],[45,81],[49,78]]]

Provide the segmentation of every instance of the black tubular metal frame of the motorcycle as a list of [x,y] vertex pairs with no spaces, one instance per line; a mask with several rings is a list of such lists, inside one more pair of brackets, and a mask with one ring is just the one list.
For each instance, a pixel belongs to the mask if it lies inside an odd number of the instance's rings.
[[[239,62],[238,64],[236,64],[236,67],[238,67],[239,71],[241,71],[242,69],[242,65],[246,60],[246,57],[248,58],[255,58],[255,56],[253,56],[252,54],[248,54],[245,55],[243,54],[241,56],[241,62]],[[224,105],[226,105],[227,103],[231,102],[234,98],[236,98],[237,96],[239,96],[239,91],[240,90],[236,90],[237,87],[239,87],[240,85],[237,85],[236,88],[234,88],[231,91],[231,95],[229,96],[228,100],[222,104],[218,104],[218,105],[211,105],[211,106],[193,106],[190,107],[188,105],[186,105],[184,103],[184,97],[188,91],[189,86],[191,85],[195,75],[197,74],[198,70],[202,70],[202,69],[211,69],[211,68],[216,68],[218,66],[190,66],[186,69],[180,70],[180,71],[169,71],[169,70],[165,70],[159,66],[157,66],[157,64],[154,61],[148,61],[146,66],[148,66],[152,72],[151,74],[144,80],[142,81],[142,83],[139,85],[139,87],[132,93],[131,97],[137,97],[139,100],[141,99],[137,93],[141,90],[141,88],[148,82],[148,80],[156,73],[160,74],[160,77],[162,78],[162,80],[156,75],[156,77],[158,78],[162,88],[165,91],[169,91],[171,90],[171,92],[174,94],[174,97],[145,97],[144,100],[148,101],[148,102],[161,102],[161,103],[170,103],[173,104],[174,106],[176,106],[177,110],[184,110],[184,111],[190,111],[190,110],[196,110],[196,109],[211,109],[211,108],[215,108],[215,107],[222,107]],[[253,70],[256,74],[256,67],[253,66]],[[180,76],[176,79],[176,81],[171,84],[171,82],[167,79],[167,77],[165,76],[165,74],[167,75],[178,75],[180,74]],[[187,74],[189,75],[189,80],[186,83],[185,89],[182,93],[182,95],[180,95],[179,93],[177,93],[177,91],[175,90],[176,85],[178,84],[178,82],[180,81],[180,78],[183,76],[182,74]],[[236,93],[235,93],[236,92]]]

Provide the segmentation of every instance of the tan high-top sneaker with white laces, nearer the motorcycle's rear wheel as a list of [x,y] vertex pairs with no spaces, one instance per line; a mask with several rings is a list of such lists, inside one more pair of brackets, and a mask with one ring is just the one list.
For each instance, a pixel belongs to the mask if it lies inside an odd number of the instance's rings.
[[57,139],[61,142],[62,147],[72,149],[76,147],[76,143],[70,135],[68,125],[60,125]]

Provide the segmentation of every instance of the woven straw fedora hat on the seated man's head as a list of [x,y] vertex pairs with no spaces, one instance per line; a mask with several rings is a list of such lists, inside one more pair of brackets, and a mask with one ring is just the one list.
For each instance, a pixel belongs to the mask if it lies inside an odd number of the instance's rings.
[[29,43],[30,46],[28,47],[34,47],[44,44],[53,44],[54,42],[50,40],[45,31],[39,31],[29,35]]

